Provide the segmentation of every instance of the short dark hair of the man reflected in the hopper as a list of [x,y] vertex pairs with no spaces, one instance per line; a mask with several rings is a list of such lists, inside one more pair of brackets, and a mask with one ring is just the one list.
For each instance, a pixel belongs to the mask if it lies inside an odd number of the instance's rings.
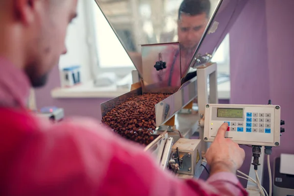
[[209,17],[210,1],[209,0],[183,0],[178,12],[178,19],[180,20],[181,14],[188,14],[196,16],[199,14],[206,14]]

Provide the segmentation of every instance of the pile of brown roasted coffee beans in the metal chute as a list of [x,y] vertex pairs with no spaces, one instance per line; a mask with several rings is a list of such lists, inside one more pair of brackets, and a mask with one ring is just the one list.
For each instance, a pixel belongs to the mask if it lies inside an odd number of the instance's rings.
[[129,98],[113,108],[102,118],[102,122],[126,139],[148,145],[156,128],[155,104],[169,97],[166,94],[144,94]]

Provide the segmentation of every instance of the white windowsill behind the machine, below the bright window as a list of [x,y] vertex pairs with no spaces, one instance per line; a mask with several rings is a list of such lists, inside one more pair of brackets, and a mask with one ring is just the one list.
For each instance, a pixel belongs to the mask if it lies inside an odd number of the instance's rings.
[[[230,81],[218,85],[219,99],[230,99]],[[118,88],[116,85],[95,87],[90,81],[72,88],[55,88],[52,98],[115,98],[130,91],[129,88]]]

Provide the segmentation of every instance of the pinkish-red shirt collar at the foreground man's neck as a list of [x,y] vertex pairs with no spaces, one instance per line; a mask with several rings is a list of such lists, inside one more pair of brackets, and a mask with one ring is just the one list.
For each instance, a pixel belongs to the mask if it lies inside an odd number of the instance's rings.
[[25,107],[30,82],[24,71],[0,57],[0,105]]

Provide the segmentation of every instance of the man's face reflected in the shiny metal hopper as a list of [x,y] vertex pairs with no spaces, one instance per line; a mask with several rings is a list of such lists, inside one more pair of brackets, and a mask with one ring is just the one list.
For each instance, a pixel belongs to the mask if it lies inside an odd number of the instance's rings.
[[178,21],[178,41],[182,49],[196,49],[208,19],[205,13],[196,16],[181,14]]

